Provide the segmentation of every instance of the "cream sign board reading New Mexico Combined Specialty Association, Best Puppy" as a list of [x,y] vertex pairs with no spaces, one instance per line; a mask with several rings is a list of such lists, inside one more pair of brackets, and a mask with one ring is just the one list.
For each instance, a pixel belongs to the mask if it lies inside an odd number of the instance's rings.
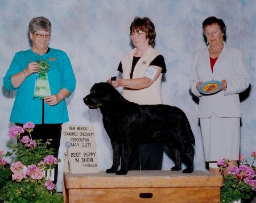
[[64,171],[69,173],[99,172],[93,126],[63,125],[63,141],[67,148]]

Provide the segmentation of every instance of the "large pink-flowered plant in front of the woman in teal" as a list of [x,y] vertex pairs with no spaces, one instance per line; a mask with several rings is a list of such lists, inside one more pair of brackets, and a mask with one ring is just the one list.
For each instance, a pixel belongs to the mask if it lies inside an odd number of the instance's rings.
[[[32,139],[31,132],[34,127],[34,123],[27,122],[23,127],[12,126],[9,130],[8,135],[16,140],[16,144],[10,143],[13,152],[7,152],[6,156],[16,155],[16,159],[9,167],[9,176],[5,176],[8,180],[3,180],[0,175],[0,183],[5,181],[5,185],[2,189],[0,188],[0,200],[5,202],[63,202],[63,196],[56,192],[51,177],[46,178],[46,172],[51,172],[60,160],[52,155],[54,154],[53,148],[49,148],[51,140],[42,143],[42,139]],[[28,135],[21,136],[24,132],[28,132]],[[0,151],[0,157],[2,159],[3,151]],[[3,164],[1,165],[1,159],[0,172],[4,167]]]

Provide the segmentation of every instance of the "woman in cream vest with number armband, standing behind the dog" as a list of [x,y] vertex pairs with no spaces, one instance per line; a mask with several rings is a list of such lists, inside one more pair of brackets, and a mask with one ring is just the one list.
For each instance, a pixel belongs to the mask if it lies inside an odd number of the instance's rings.
[[[114,88],[123,87],[122,96],[140,105],[162,104],[162,73],[166,73],[164,57],[151,45],[155,26],[150,19],[135,17],[130,26],[135,48],[121,60],[118,71],[122,78],[111,81]],[[110,80],[109,80],[110,81]],[[163,143],[139,144],[132,151],[130,170],[160,170]]]

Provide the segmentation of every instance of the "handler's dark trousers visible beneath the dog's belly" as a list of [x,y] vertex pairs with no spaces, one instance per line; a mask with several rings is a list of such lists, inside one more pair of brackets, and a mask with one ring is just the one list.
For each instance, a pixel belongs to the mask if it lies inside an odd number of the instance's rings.
[[131,151],[131,171],[161,170],[164,143],[153,142],[139,144]]

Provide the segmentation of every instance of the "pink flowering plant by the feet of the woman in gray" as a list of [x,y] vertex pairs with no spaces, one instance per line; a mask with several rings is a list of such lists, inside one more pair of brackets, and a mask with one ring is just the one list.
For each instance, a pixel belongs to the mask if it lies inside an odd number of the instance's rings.
[[[218,160],[217,164],[221,169],[224,177],[224,184],[221,188],[221,202],[233,202],[238,200],[250,199],[256,186],[254,161],[256,159],[256,152],[252,152],[253,163],[250,165],[247,160],[240,155],[239,167],[233,166],[228,168],[229,160]],[[224,176],[224,171],[226,176]]]

